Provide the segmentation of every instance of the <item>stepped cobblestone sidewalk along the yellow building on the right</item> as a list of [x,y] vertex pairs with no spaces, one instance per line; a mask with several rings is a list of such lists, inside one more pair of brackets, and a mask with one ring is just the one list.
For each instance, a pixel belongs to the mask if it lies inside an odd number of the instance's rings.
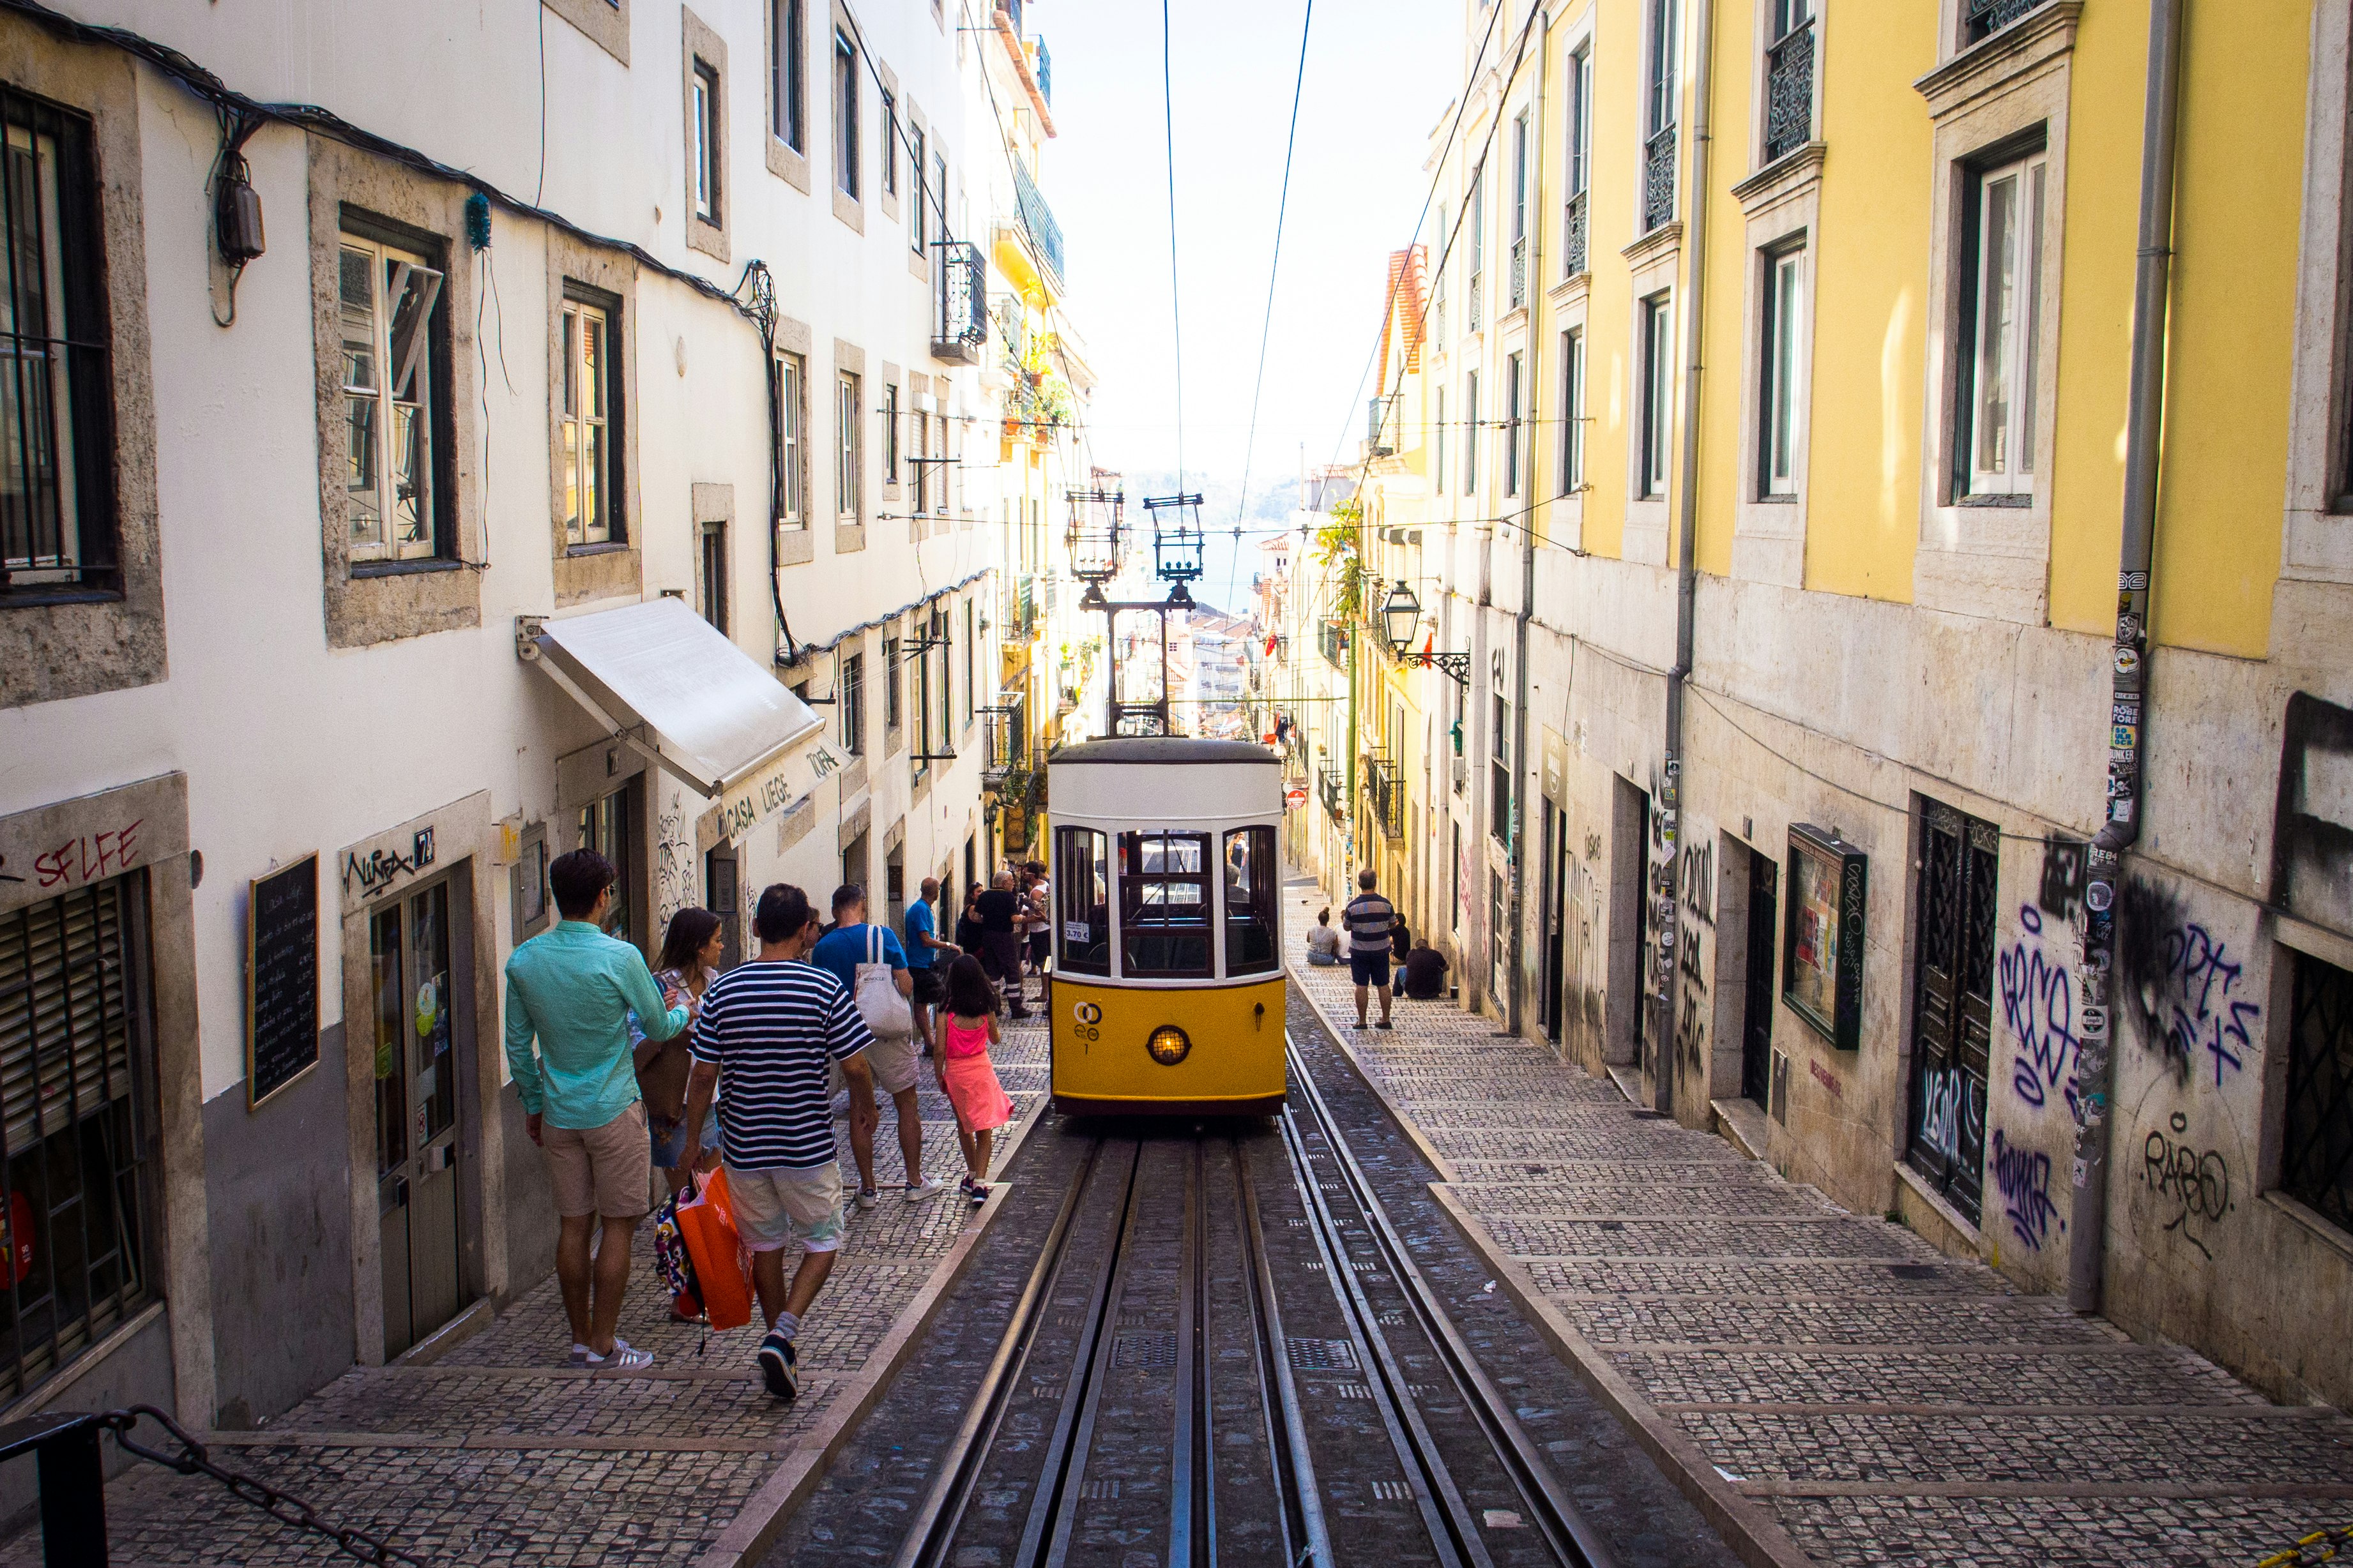
[[1346,969],[1292,980],[1562,1349],[1774,1561],[2252,1566],[2353,1516],[2337,1410],[2019,1295],[1485,1016],[1358,1032]]

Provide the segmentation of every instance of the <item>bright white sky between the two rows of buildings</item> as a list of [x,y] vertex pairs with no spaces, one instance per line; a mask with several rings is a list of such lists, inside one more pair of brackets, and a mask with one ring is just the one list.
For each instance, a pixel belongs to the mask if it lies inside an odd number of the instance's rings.
[[[1454,96],[1461,9],[1449,0],[1318,0],[1304,80],[1301,0],[1169,5],[1167,16],[1181,451],[1158,5],[1028,0],[1026,28],[1054,54],[1056,139],[1042,186],[1064,230],[1071,320],[1101,378],[1087,416],[1094,461],[1153,480],[1181,461],[1186,489],[1214,491],[1219,503],[1202,515],[1212,543],[1231,548],[1231,534],[1217,541],[1217,531],[1233,527],[1238,508],[1264,517],[1261,498],[1280,494],[1280,510],[1289,510],[1301,442],[1308,465],[1355,458],[1388,254],[1412,240],[1428,195],[1421,165]],[[1294,80],[1299,143],[1252,442]],[[1141,494],[1134,480],[1127,494]],[[1226,555],[1212,550],[1200,595],[1214,604],[1228,599]]]

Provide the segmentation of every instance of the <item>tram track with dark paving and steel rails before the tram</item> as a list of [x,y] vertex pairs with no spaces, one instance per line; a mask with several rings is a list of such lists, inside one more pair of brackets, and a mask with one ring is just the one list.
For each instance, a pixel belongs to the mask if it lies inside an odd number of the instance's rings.
[[[1297,1048],[1292,1086],[1273,1138],[1092,1135],[899,1568],[1337,1566],[1334,1505],[1351,1561],[1421,1559],[1393,1535],[1419,1521],[1440,1568],[1612,1568]],[[1278,1143],[1289,1182],[1266,1168]],[[1292,1192],[1271,1246],[1261,1197]],[[1289,1338],[1285,1305],[1339,1333]],[[1301,1368],[1346,1382],[1304,1392]]]

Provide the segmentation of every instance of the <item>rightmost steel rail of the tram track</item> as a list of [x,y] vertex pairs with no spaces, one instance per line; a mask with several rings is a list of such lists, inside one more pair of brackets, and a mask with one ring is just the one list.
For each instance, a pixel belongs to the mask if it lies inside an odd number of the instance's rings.
[[[1332,1150],[1332,1157],[1339,1164],[1339,1175],[1348,1187],[1348,1194],[1365,1215],[1381,1260],[1398,1279],[1414,1319],[1421,1324],[1421,1331],[1431,1340],[1433,1349],[1438,1349],[1438,1359],[1445,1363],[1447,1375],[1461,1392],[1466,1408],[1487,1434],[1487,1441],[1494,1448],[1497,1460],[1501,1460],[1504,1472],[1511,1476],[1513,1488],[1518,1488],[1520,1500],[1527,1502],[1527,1512],[1539,1533],[1546,1537],[1553,1556],[1562,1563],[1581,1568],[1617,1568],[1609,1544],[1593,1530],[1591,1523],[1586,1523],[1584,1514],[1577,1512],[1577,1505],[1569,1502],[1567,1490],[1560,1486],[1560,1476],[1553,1474],[1553,1467],[1544,1460],[1544,1450],[1527,1434],[1527,1427],[1520,1425],[1518,1415],[1513,1415],[1511,1401],[1487,1378],[1487,1371],[1478,1363],[1471,1345],[1464,1340],[1454,1319],[1438,1300],[1438,1291],[1421,1274],[1421,1267],[1405,1248],[1405,1239],[1398,1234],[1395,1225],[1391,1225],[1388,1211],[1381,1206],[1379,1194],[1374,1194],[1372,1180],[1358,1164],[1348,1140],[1341,1135],[1339,1121],[1332,1117],[1332,1107],[1322,1098],[1322,1088],[1315,1084],[1315,1074],[1308,1070],[1306,1058],[1299,1056],[1299,1046],[1287,1030],[1285,1044],[1289,1046],[1292,1072],[1304,1091],[1304,1095],[1292,1095],[1292,1100],[1299,1103],[1304,1098],[1315,1119],[1315,1131],[1322,1135],[1325,1147]],[[1292,1112],[1285,1110],[1285,1121],[1289,1124],[1289,1119]],[[1289,1131],[1297,1138],[1297,1126]],[[1374,1328],[1374,1333],[1379,1333],[1379,1328]]]

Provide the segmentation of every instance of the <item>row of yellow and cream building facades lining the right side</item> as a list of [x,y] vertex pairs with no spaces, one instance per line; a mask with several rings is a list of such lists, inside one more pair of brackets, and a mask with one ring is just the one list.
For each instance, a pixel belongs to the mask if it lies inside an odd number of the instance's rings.
[[1466,0],[1353,552],[1466,1006],[2339,1403],[2346,33]]

